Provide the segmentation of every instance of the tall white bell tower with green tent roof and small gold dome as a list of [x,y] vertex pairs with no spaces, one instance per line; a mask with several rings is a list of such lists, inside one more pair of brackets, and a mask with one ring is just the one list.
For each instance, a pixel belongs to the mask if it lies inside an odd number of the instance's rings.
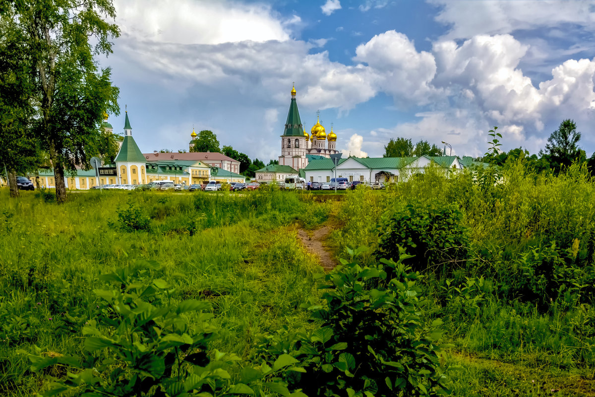
[[281,155],[279,156],[280,165],[289,165],[295,170],[306,167],[308,159],[309,135],[305,132],[302,120],[299,117],[296,101],[296,87],[292,88],[292,101],[289,104],[287,121],[285,129],[281,135]]

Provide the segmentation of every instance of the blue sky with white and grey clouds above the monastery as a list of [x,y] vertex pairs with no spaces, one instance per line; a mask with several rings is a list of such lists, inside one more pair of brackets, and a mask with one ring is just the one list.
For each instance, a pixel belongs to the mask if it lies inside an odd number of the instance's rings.
[[[595,151],[595,1],[114,0],[112,68],[143,152],[188,149],[193,128],[265,164],[281,152],[295,82],[348,155],[391,138],[532,154],[566,118]],[[447,148],[447,153],[450,149]]]

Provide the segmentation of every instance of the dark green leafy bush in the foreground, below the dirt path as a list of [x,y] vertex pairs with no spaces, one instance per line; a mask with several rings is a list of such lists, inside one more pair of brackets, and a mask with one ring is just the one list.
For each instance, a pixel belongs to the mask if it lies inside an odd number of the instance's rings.
[[[288,352],[305,373],[290,373],[290,387],[308,396],[437,395],[444,388],[438,342],[440,320],[424,326],[424,298],[402,261],[362,266],[365,251],[324,275],[322,305],[309,308],[320,327],[264,338],[262,355]],[[401,251],[401,258],[408,258]]]

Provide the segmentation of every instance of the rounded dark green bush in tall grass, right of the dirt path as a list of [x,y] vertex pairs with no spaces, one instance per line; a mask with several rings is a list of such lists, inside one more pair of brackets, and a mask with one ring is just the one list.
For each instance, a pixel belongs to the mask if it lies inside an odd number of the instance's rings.
[[414,270],[439,273],[461,267],[468,255],[462,212],[454,205],[408,204],[380,227],[377,257],[399,260],[400,247],[413,255]]

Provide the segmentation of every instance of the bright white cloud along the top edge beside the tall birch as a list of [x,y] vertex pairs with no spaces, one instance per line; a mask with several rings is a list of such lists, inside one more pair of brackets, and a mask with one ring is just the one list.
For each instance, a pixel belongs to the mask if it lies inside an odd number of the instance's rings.
[[[123,35],[139,39],[183,44],[289,39],[283,23],[270,7],[262,4],[225,0],[116,0],[115,8],[116,22]],[[289,21],[295,20],[294,15]]]

